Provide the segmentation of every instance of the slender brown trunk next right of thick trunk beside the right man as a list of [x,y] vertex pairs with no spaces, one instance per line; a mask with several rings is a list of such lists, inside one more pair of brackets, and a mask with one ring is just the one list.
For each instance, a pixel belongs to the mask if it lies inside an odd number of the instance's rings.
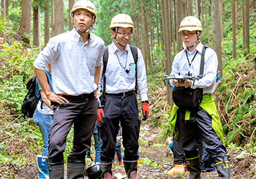
[[233,59],[236,58],[236,0],[231,0]]

